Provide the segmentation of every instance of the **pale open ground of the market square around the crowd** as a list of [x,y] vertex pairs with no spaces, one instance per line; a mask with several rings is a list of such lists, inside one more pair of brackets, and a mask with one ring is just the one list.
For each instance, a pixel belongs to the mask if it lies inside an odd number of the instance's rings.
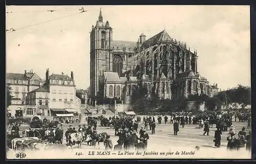
[[[82,125],[83,123],[81,123]],[[240,122],[233,122],[233,125],[235,127],[234,131],[236,133],[238,133],[242,127],[247,127],[246,126],[247,123],[240,123]],[[78,129],[78,124],[63,124],[63,129],[66,131],[67,128],[69,127],[69,125],[72,125],[72,127],[75,127],[76,129]],[[86,124],[87,125],[87,124]],[[97,124],[99,125],[99,123]],[[139,128],[138,131],[140,129],[140,127],[143,126],[142,123],[139,124]],[[143,126],[144,127],[144,126]],[[22,131],[25,131],[25,129],[27,129],[28,126],[22,126],[20,127],[20,133]],[[234,153],[232,152],[232,154],[228,155],[227,150],[226,150],[226,146],[227,146],[227,141],[226,138],[228,136],[227,132],[222,132],[222,140],[221,140],[221,148],[215,148],[214,147],[214,134],[215,134],[215,130],[216,128],[210,128],[210,132],[209,135],[207,136],[206,134],[203,135],[204,131],[203,128],[199,128],[198,125],[185,125],[184,128],[182,128],[181,126],[179,126],[179,132],[178,135],[174,135],[173,133],[173,124],[172,123],[167,123],[167,124],[158,124],[156,123],[156,129],[155,129],[155,134],[151,134],[151,130],[147,130],[148,135],[150,136],[150,139],[148,139],[148,147],[147,147],[147,151],[150,151],[154,154],[155,152],[160,153],[160,151],[163,152],[169,152],[170,155],[162,155],[159,157],[158,155],[153,155],[153,156],[147,156],[147,157],[151,157],[151,158],[184,158],[183,156],[179,156],[178,154],[176,155],[172,155],[171,151],[173,151],[174,153],[177,153],[178,150],[179,152],[181,151],[191,151],[194,152],[195,151],[195,147],[198,146],[200,147],[200,155],[196,156],[196,155],[191,155],[190,156],[185,156],[186,158],[198,158],[198,157],[205,157],[205,158],[250,158],[250,154],[248,152],[245,151],[245,148],[241,148],[241,150],[239,150],[239,153]],[[248,131],[250,129],[246,128],[246,134],[248,134]],[[110,129],[110,127],[97,127],[97,132],[106,132],[111,136],[111,140],[113,142],[113,145],[117,144],[117,140],[118,140],[118,136],[115,136],[115,130],[114,129]],[[237,134],[236,134],[237,135]],[[65,135],[63,135],[63,144],[66,144],[66,137]],[[99,145],[94,146],[89,146],[86,143],[82,143],[82,149],[78,149],[77,146],[74,146],[72,151],[86,151],[86,153],[82,153],[83,155],[78,155],[79,158],[88,158],[88,152],[89,151],[104,151],[104,146],[103,143],[100,143]],[[176,151],[174,151],[176,150]],[[221,150],[221,151],[220,151]],[[208,153],[206,153],[208,152]],[[241,153],[243,152],[243,153]],[[56,152],[55,152],[56,153]],[[219,154],[216,154],[219,153]],[[87,154],[87,155],[86,155]],[[213,155],[215,154],[215,155]],[[237,155],[235,155],[237,154]],[[73,154],[74,155],[74,154]],[[63,156],[62,156],[63,157]],[[75,156],[71,156],[72,158],[77,157],[77,155]],[[102,158],[102,156],[94,156],[94,158]],[[109,156],[104,156],[104,158],[109,158]],[[112,156],[113,157],[113,156]],[[122,155],[119,155],[119,157],[122,157]],[[125,157],[138,157],[137,156],[125,156]],[[143,154],[141,155],[141,157],[145,157],[146,156]],[[115,156],[116,158],[116,156]]]

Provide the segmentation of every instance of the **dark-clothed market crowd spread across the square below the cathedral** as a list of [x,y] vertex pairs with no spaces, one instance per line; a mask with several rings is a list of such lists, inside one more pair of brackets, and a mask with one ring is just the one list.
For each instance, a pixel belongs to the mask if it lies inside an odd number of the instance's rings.
[[[143,116],[141,119],[139,116],[137,118],[133,117],[119,117],[119,116],[110,116],[109,118],[104,118],[104,116],[93,118],[87,118],[87,126],[83,124],[79,125],[76,130],[75,127],[70,127],[64,133],[62,124],[58,127],[54,122],[49,123],[48,128],[43,128],[44,133],[38,132],[29,128],[27,133],[22,134],[22,137],[32,137],[32,136],[40,136],[42,139],[48,139],[49,143],[54,144],[62,144],[63,135],[66,136],[66,142],[69,143],[69,134],[81,132],[86,135],[90,135],[92,138],[99,137],[99,133],[97,132],[97,122],[100,121],[101,126],[110,126],[110,128],[115,130],[115,136],[118,136],[117,145],[113,146],[112,139],[110,135],[106,134],[105,139],[103,140],[105,150],[145,150],[147,149],[148,139],[150,138],[148,135],[148,131],[151,134],[156,133],[156,125],[160,124],[173,124],[174,135],[178,135],[179,127],[184,128],[185,125],[190,124],[198,124],[199,128],[203,128],[203,135],[209,135],[210,123],[211,119],[219,119],[219,120],[231,120],[232,118],[239,119],[240,122],[247,122],[247,128],[250,128],[251,118],[250,113],[248,112],[234,112],[232,110],[229,111],[203,111],[197,114],[193,114],[191,112],[172,112],[169,115],[156,115],[156,116]],[[157,123],[156,123],[157,120]],[[44,120],[45,121],[45,120]],[[43,121],[43,122],[44,122]],[[141,129],[139,129],[139,125],[142,124]],[[232,125],[232,124],[231,124]],[[12,134],[17,134],[19,131],[18,125],[13,124],[12,126]],[[221,135],[222,129],[217,127],[214,135],[214,145],[219,148],[221,147]],[[238,133],[238,137],[235,135],[234,128],[230,126],[228,131],[227,140],[227,148],[228,149],[239,149],[240,147],[246,147],[246,150],[251,149],[251,133],[249,131],[248,134],[245,132],[245,127],[242,128]],[[86,135],[83,135],[84,141],[86,141]],[[93,139],[94,140],[94,139]],[[89,145],[89,140],[87,141]],[[93,144],[91,144],[93,145]]]

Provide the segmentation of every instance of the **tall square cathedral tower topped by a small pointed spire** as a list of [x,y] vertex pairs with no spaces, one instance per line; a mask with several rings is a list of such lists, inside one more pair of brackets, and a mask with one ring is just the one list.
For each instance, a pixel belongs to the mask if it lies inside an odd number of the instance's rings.
[[95,98],[101,87],[103,72],[112,71],[112,28],[109,21],[103,22],[101,9],[95,27],[92,26],[90,38],[90,95]]

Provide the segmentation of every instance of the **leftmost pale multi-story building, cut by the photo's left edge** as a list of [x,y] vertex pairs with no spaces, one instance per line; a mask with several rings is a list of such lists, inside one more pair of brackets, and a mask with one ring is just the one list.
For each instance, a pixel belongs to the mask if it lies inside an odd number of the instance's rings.
[[11,116],[26,116],[26,97],[31,90],[39,88],[43,81],[33,73],[33,70],[24,74],[7,73],[6,83],[11,87],[10,94],[13,96],[11,105],[8,107],[11,111]]

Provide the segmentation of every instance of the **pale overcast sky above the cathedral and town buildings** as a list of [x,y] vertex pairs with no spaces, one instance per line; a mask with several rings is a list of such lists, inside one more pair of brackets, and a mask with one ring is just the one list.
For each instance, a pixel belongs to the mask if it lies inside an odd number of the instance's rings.
[[[79,13],[81,7],[88,11]],[[86,89],[90,31],[100,7],[113,40],[137,41],[141,33],[150,38],[166,29],[197,49],[198,71],[210,83],[250,86],[249,6],[8,6],[6,29],[17,31],[6,34],[7,72],[33,69],[45,78],[47,68],[50,74],[73,71],[77,88]]]

